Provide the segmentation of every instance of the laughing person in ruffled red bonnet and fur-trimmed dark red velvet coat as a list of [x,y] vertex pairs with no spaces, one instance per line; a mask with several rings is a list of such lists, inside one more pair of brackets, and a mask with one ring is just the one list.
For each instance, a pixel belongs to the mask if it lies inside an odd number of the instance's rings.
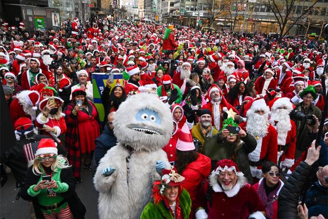
[[266,219],[255,189],[230,159],[217,162],[197,194],[195,207],[196,219]]

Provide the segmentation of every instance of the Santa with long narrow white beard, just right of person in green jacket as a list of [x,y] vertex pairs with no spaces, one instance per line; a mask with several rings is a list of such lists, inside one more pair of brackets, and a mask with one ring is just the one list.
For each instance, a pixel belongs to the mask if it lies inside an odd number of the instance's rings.
[[181,71],[176,72],[173,75],[173,78],[172,78],[172,83],[177,85],[180,88],[180,91],[183,95],[188,94],[187,81],[188,81],[189,76],[191,74],[190,68],[191,68],[190,63],[188,63],[188,62],[182,63]]

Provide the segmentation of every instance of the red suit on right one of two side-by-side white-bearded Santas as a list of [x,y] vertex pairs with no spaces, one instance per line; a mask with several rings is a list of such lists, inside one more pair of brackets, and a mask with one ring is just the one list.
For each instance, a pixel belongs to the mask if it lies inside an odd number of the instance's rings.
[[[281,123],[284,123],[283,121]],[[291,129],[287,131],[287,134],[281,134],[277,133],[277,144],[278,144],[278,156],[277,160],[279,160],[279,157],[282,155],[282,153],[286,150],[285,154],[281,157],[281,165],[286,166],[288,168],[291,168],[294,164],[295,159],[295,147],[296,147],[296,125],[293,120],[290,120],[290,123],[292,125]],[[272,121],[273,127],[276,128],[276,124],[274,121]]]

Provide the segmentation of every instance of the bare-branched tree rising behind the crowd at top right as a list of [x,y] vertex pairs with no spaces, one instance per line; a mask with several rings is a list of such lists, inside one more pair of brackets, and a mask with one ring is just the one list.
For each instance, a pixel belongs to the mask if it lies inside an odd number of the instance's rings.
[[[310,0],[310,5],[301,11],[299,14],[294,14],[295,6],[300,5],[301,0],[268,0],[267,6],[273,12],[275,19],[277,20],[280,34],[278,41],[290,31],[298,21],[306,15],[313,6],[318,2],[318,0]],[[297,4],[296,4],[297,3]],[[287,27],[287,23],[290,22]]]

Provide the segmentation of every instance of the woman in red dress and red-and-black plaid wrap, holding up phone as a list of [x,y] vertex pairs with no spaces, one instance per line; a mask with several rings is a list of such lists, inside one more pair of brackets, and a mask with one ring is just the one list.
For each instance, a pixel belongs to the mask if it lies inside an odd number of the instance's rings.
[[80,183],[81,164],[90,169],[91,158],[95,150],[95,140],[100,135],[98,112],[86,99],[83,89],[72,92],[72,102],[65,110],[67,125],[66,148],[69,163],[74,167],[74,177]]

